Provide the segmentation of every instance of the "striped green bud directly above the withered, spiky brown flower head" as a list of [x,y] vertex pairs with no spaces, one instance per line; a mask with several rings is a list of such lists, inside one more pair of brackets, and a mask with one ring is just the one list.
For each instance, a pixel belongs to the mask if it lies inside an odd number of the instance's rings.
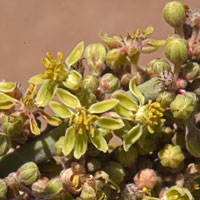
[[153,59],[147,67],[147,73],[150,76],[154,76],[156,74],[160,74],[161,72],[165,71],[165,70],[170,70],[171,67],[168,63],[167,60],[163,59],[163,58],[157,58],[157,59]]

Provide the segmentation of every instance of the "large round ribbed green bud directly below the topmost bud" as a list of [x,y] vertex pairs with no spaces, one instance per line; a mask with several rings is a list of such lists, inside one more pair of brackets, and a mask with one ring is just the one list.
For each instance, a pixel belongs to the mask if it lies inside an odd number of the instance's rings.
[[[188,42],[184,39],[169,38],[165,47],[165,56],[174,64],[182,64],[188,57]],[[176,69],[175,69],[176,71]]]

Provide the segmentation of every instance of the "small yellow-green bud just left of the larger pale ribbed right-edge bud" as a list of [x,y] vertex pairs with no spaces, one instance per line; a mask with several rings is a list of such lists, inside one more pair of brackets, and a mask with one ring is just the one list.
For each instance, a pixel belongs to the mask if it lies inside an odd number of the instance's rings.
[[166,108],[174,100],[175,94],[170,91],[163,91],[158,94],[156,99],[160,103],[161,107]]

